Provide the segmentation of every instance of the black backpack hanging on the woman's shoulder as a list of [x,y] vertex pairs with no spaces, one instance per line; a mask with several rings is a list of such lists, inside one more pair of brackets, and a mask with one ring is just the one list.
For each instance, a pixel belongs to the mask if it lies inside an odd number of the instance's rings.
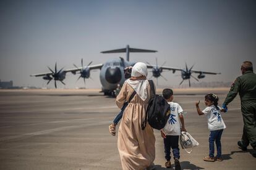
[[145,120],[142,124],[142,130],[145,129],[148,124],[154,129],[163,129],[167,123],[171,108],[168,102],[163,98],[163,96],[155,94],[154,83],[152,80],[148,80],[150,83],[150,91],[153,92],[153,97],[148,101],[148,107],[146,110]]

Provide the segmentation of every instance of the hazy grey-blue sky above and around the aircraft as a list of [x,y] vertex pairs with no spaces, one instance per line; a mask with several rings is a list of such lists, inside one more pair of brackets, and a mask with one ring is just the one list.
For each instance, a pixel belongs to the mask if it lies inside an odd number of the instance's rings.
[[[195,70],[221,72],[200,81],[233,81],[244,60],[256,67],[255,9],[255,1],[1,0],[0,79],[46,87],[47,81],[29,75],[49,71],[55,62],[58,68],[73,68],[82,58],[85,64],[125,58],[100,51],[129,44],[158,51],[131,53],[132,61],[155,64],[158,57],[160,65],[166,61],[178,68],[195,63]],[[87,87],[101,87],[99,73],[91,73]],[[78,76],[67,73],[66,87],[82,87]],[[179,71],[163,76],[168,81],[159,78],[159,84],[174,86],[182,80]]]

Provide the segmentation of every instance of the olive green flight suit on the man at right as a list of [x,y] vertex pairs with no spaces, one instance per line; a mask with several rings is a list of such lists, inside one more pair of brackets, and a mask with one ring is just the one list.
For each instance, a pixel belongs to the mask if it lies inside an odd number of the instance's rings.
[[244,131],[242,144],[247,147],[250,143],[256,149],[256,75],[252,71],[246,71],[232,84],[230,91],[224,100],[228,105],[237,95],[240,95]]

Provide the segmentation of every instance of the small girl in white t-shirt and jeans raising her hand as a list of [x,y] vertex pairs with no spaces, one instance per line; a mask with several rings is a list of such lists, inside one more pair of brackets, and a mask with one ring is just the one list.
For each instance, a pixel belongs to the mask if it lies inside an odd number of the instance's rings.
[[[203,158],[204,161],[223,161],[221,158],[221,135],[223,129],[226,128],[223,119],[221,118],[220,111],[223,111],[218,107],[218,97],[216,94],[207,94],[205,95],[205,105],[207,107],[201,111],[199,108],[199,102],[195,103],[197,107],[198,115],[206,115],[208,121],[208,129],[210,130],[209,136],[209,155]],[[214,142],[217,147],[217,155],[214,157]]]

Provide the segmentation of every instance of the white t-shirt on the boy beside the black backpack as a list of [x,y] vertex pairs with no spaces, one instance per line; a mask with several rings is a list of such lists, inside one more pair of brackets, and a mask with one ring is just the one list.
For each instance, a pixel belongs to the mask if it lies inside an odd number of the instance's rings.
[[171,108],[171,114],[163,131],[168,136],[180,136],[181,126],[179,124],[179,115],[182,114],[183,110],[178,103],[168,102]]

